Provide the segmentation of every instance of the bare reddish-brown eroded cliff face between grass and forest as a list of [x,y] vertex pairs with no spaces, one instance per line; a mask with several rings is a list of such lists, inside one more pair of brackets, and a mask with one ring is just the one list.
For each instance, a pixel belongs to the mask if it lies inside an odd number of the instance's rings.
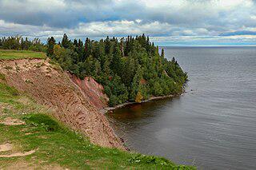
[[106,117],[99,112],[108,98],[94,79],[80,80],[41,59],[0,61],[0,73],[6,76],[8,85],[53,109],[54,117],[86,134],[94,144],[124,149]]

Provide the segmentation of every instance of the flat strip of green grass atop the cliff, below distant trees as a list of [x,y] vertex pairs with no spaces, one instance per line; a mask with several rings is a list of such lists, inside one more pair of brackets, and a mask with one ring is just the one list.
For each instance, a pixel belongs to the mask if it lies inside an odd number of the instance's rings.
[[0,60],[13,60],[23,58],[46,58],[46,53],[29,50],[6,50],[0,49]]

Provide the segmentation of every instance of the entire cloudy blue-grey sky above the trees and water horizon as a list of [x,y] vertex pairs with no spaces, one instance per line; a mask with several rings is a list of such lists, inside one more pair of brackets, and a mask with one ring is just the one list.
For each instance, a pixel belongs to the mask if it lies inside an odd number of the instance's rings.
[[0,37],[149,35],[158,45],[256,45],[256,0],[0,0]]

